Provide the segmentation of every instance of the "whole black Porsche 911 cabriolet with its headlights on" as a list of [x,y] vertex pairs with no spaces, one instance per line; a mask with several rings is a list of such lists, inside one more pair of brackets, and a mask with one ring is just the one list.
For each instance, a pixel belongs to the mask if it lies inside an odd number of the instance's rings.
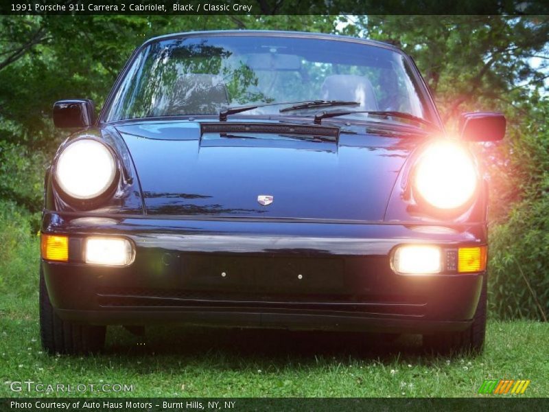
[[[45,176],[40,330],[50,353],[106,325],[423,334],[482,349],[487,182],[412,59],[297,32],[192,32],[137,48]],[[384,335],[385,336],[385,335]]]

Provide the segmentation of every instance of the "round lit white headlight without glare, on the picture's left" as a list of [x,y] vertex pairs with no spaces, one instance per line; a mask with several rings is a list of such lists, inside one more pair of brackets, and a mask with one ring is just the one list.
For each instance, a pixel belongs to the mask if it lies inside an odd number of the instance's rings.
[[116,163],[113,154],[99,141],[76,140],[59,156],[56,181],[61,190],[77,199],[91,199],[113,183]]

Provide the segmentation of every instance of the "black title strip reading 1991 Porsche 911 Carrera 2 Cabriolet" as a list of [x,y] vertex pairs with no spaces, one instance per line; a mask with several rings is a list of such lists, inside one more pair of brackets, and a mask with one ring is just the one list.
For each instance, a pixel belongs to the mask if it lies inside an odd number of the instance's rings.
[[546,0],[4,0],[0,14],[549,14]]

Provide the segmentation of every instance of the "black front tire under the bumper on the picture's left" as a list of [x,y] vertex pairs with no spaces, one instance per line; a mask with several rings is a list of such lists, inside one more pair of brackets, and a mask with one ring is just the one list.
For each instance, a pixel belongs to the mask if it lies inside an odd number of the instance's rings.
[[105,345],[106,326],[82,325],[57,316],[40,268],[40,338],[49,354],[89,354]]

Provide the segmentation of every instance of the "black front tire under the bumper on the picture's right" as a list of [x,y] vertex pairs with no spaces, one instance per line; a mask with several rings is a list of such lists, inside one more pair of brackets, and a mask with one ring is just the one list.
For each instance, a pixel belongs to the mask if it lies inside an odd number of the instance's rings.
[[440,332],[423,336],[423,347],[429,352],[449,354],[465,352],[467,350],[478,354],[484,346],[486,336],[487,311],[487,275],[482,281],[482,291],[476,308],[473,323],[462,332]]

